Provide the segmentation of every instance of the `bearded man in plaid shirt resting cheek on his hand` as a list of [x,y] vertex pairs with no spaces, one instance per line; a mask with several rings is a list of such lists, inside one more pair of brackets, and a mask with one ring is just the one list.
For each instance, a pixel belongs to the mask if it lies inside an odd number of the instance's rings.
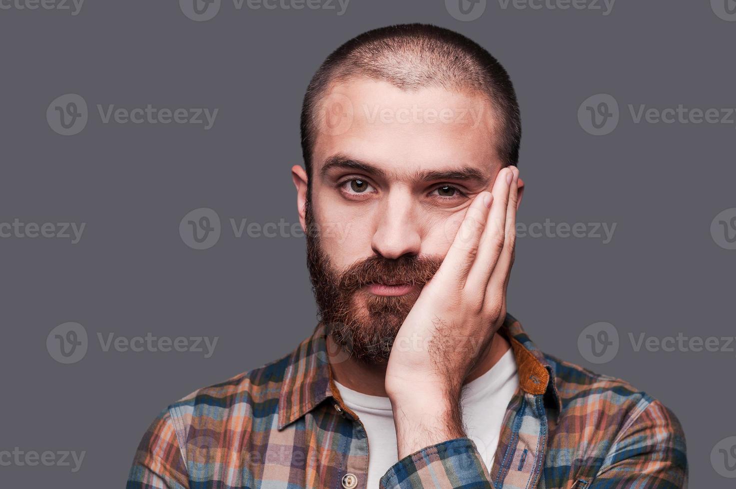
[[498,60],[436,26],[375,29],[319,67],[301,122],[320,321],[163,410],[129,489],[686,487],[667,407],[506,312],[524,183]]

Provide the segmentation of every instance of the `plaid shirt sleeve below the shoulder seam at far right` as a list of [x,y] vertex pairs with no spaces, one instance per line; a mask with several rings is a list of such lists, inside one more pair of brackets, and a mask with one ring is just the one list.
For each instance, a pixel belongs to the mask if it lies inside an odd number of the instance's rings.
[[678,419],[655,400],[613,443],[601,470],[576,489],[687,488],[685,437]]

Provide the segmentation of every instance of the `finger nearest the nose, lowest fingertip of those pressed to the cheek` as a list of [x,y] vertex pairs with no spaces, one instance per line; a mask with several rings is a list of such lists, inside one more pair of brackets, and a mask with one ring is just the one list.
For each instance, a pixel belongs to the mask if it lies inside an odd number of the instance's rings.
[[450,277],[460,284],[465,282],[467,272],[478,254],[478,243],[486,227],[489,207],[493,200],[490,192],[481,192],[475,196],[460,223],[445,260],[437,271],[440,276]]

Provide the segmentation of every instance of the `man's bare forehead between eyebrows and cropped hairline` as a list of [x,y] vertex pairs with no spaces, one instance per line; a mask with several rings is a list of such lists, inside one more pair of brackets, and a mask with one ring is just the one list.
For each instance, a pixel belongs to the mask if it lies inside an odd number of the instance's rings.
[[315,115],[313,174],[335,154],[389,173],[501,166],[492,104],[478,92],[349,79],[325,93]]

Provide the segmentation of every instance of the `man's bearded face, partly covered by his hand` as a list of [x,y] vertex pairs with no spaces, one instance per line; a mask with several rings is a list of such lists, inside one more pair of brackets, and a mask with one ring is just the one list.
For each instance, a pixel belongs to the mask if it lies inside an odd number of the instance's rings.
[[[351,79],[316,115],[302,213],[302,225],[319,230],[307,232],[316,300],[336,343],[383,363],[470,202],[503,166],[495,114],[479,93]],[[303,199],[303,171],[299,180]]]

